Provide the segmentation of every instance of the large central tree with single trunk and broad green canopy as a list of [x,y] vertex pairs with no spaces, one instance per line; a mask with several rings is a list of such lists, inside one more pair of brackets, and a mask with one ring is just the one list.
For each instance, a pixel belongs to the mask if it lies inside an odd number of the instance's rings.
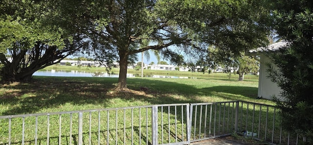
[[[239,54],[266,40],[269,12],[263,0],[105,0],[94,2],[86,27],[96,54],[117,58],[120,72],[117,89],[126,89],[130,57],[149,49],[164,56],[206,51],[208,45]],[[138,47],[142,40],[152,41]]]

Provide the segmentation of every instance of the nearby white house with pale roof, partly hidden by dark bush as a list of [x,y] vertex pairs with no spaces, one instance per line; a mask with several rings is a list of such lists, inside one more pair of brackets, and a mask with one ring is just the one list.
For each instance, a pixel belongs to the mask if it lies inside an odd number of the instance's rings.
[[[268,47],[261,47],[255,50],[250,50],[249,55],[260,56],[260,70],[259,70],[259,88],[258,88],[258,97],[271,99],[273,95],[276,97],[280,96],[281,88],[277,86],[276,83],[271,82],[271,80],[267,77],[267,63],[270,63],[271,60],[266,56],[268,51],[275,51],[279,48],[287,46],[288,42],[281,41],[274,44],[269,45]],[[276,66],[273,66],[274,69],[278,69]]]

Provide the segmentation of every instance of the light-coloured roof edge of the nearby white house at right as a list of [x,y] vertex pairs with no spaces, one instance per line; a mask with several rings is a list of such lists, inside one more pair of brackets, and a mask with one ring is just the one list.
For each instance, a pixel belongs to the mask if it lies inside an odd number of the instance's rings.
[[277,43],[270,44],[267,47],[260,47],[260,48],[249,50],[248,53],[255,54],[255,53],[259,53],[259,52],[276,51],[276,50],[279,50],[280,48],[286,47],[288,45],[290,45],[290,42],[280,41]]

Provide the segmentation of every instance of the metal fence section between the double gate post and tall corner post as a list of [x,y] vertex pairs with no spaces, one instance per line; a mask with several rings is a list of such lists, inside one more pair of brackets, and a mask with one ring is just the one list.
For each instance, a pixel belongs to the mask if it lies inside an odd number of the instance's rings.
[[231,135],[235,131],[236,101],[190,105],[191,142]]

